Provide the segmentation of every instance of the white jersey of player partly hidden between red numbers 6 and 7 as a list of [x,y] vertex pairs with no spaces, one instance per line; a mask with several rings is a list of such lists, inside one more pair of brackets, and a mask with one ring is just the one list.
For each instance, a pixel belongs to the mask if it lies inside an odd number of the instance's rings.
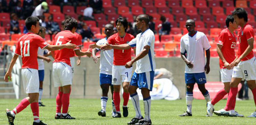
[[[106,44],[106,38],[99,40],[96,44],[103,45]],[[112,65],[113,65],[113,58],[114,58],[114,50],[106,50],[100,52],[100,73],[112,75]]]

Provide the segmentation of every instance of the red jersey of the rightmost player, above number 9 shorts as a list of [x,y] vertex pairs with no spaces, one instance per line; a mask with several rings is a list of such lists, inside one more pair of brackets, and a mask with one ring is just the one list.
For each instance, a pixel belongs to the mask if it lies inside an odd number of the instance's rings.
[[[245,24],[244,27],[241,27],[238,30],[238,40],[239,40],[239,48],[238,48],[238,57],[241,56],[246,48],[248,47],[248,42],[247,40],[253,38],[254,39],[254,32],[253,28],[249,24]],[[251,50],[248,55],[246,55],[244,58],[242,58],[241,61],[249,60],[253,57],[253,51]]]

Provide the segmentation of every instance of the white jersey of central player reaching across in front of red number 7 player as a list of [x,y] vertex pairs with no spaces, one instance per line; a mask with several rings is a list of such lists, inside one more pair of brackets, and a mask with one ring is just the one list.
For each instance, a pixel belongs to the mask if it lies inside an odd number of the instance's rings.
[[150,51],[143,58],[136,61],[135,73],[145,73],[155,71],[156,62],[154,57],[155,35],[151,29],[140,33],[128,43],[130,46],[136,46],[136,56],[143,50],[144,46],[150,46]]

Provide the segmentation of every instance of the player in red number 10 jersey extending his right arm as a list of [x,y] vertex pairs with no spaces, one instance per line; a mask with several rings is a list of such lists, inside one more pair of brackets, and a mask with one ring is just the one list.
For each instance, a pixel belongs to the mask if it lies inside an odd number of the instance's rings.
[[38,92],[39,92],[39,76],[38,76],[38,62],[37,62],[37,51],[38,47],[41,49],[48,50],[58,50],[63,48],[76,48],[74,44],[62,44],[62,45],[49,45],[44,39],[40,36],[36,35],[39,32],[39,19],[37,17],[28,17],[25,20],[26,27],[29,30],[29,33],[22,36],[18,39],[16,44],[15,54],[11,60],[9,69],[5,75],[5,81],[8,82],[11,79],[12,68],[18,58],[18,56],[22,56],[22,80],[24,85],[24,90],[28,93],[28,97],[24,98],[12,111],[7,109],[7,118],[9,124],[14,124],[15,115],[22,110],[24,110],[29,104],[34,116],[35,124],[45,124],[41,120],[39,120],[39,107],[38,107]]

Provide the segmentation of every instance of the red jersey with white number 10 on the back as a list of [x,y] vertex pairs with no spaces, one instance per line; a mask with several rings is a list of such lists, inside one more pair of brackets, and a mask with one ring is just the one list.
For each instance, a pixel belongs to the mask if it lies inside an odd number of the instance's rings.
[[44,49],[47,45],[49,44],[44,39],[33,33],[27,33],[20,37],[16,44],[15,54],[22,56],[22,68],[38,70],[38,47]]

